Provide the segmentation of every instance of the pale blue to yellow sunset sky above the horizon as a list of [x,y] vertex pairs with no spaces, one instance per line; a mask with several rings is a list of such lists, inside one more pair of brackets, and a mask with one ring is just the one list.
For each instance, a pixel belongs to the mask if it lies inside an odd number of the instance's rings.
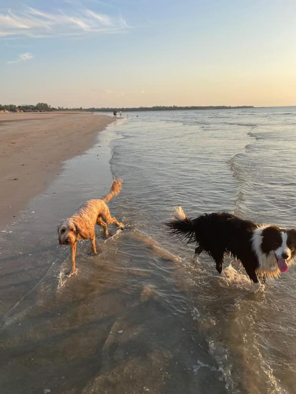
[[294,0],[0,0],[0,104],[296,105]]

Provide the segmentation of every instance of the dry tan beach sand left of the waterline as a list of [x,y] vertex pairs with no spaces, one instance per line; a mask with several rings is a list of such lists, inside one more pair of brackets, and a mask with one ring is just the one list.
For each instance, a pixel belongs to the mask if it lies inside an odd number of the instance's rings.
[[89,113],[0,114],[0,226],[59,175],[61,163],[95,141],[111,116]]

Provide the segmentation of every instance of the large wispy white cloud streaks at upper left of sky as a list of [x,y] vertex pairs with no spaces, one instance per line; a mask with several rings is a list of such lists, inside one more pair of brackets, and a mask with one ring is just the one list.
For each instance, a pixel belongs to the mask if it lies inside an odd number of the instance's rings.
[[82,7],[53,12],[28,7],[22,12],[0,13],[0,38],[118,33],[128,28],[122,16],[111,17]]

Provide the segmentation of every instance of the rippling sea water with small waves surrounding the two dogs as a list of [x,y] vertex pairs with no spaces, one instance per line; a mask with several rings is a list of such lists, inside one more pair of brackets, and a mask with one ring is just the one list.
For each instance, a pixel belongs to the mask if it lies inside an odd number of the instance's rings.
[[[254,294],[237,262],[193,265],[165,227],[179,205],[296,227],[296,107],[128,115],[0,232],[0,391],[296,392],[295,266]],[[65,280],[56,226],[113,177],[127,229],[97,228]]]

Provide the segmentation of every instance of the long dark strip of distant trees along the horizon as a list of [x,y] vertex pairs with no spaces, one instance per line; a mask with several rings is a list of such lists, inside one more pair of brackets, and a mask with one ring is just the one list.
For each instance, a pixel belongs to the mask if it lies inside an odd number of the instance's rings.
[[171,110],[229,110],[235,108],[254,108],[254,106],[190,106],[190,107],[177,107],[177,106],[154,106],[154,107],[122,107],[122,108],[64,108],[64,107],[51,107],[46,103],[38,103],[36,105],[21,105],[14,104],[0,104],[0,111],[9,112],[51,112],[51,111],[90,111],[90,112],[111,112],[116,109],[117,111],[171,111]]

